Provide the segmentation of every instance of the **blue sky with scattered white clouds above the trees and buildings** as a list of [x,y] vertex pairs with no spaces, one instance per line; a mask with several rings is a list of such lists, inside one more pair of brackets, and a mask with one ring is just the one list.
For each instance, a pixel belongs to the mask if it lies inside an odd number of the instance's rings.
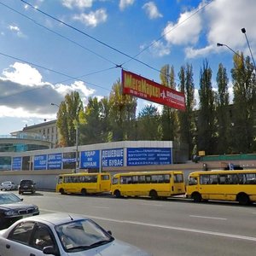
[[51,103],[74,90],[84,106],[109,96],[121,67],[160,83],[168,64],[178,86],[189,63],[197,97],[203,61],[213,90],[221,62],[232,101],[231,49],[256,54],[255,10],[255,0],[0,0],[0,135],[55,119]]

